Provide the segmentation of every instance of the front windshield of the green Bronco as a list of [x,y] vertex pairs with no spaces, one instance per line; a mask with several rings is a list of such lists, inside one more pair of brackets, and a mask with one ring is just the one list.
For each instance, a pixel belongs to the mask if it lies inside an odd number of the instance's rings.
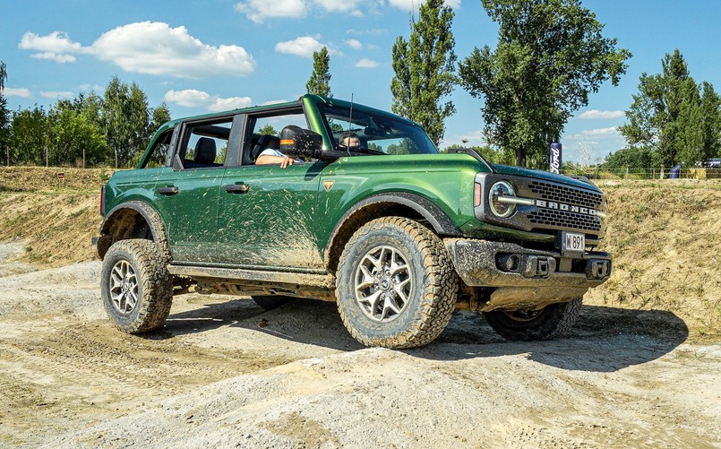
[[[433,154],[437,153],[423,128],[399,117],[380,111],[368,112],[340,106],[322,105],[325,118],[337,150],[368,152],[370,154]],[[340,135],[354,133],[360,144],[350,148],[340,145]],[[344,134],[348,135],[348,134]]]

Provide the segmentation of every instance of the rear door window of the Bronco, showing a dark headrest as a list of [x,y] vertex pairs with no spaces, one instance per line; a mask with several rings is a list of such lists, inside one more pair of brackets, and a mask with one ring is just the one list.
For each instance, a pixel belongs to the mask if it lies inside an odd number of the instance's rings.
[[184,168],[222,167],[233,117],[185,125],[178,156]]

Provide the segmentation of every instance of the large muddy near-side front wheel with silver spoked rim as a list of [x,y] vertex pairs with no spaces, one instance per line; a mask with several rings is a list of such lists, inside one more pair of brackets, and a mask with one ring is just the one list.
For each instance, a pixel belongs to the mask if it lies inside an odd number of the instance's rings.
[[336,278],[338,310],[366,346],[414,348],[451,320],[458,277],[442,241],[414,220],[370,221],[350,238]]

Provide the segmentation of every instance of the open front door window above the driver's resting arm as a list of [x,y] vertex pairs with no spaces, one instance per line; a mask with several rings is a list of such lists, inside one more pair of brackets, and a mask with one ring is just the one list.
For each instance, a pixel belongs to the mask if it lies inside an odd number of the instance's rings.
[[243,163],[254,164],[263,151],[279,151],[280,132],[288,125],[308,127],[308,122],[301,109],[249,117],[247,134],[245,134]]

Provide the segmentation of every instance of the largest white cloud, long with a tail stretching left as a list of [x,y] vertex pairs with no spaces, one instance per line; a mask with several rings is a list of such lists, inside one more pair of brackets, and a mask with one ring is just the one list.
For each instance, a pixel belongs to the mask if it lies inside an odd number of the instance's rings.
[[58,63],[75,62],[76,54],[91,54],[129,73],[177,78],[248,74],[255,70],[253,56],[236,45],[213,47],[193,38],[185,27],[163,22],[136,22],[109,30],[90,47],[71,41],[61,31],[47,36],[27,32],[19,47],[39,53],[32,57]]

